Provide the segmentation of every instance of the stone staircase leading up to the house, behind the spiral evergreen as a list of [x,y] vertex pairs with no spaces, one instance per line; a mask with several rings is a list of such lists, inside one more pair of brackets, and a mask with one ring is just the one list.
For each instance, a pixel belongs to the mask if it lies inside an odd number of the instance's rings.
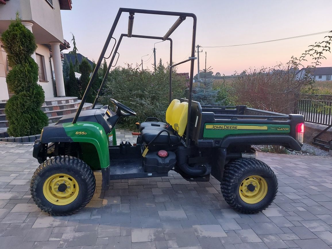
[[[47,115],[48,123],[56,123],[64,115],[76,112],[81,101],[77,97],[45,98],[41,110]],[[0,127],[8,127],[5,115],[6,102],[0,102]],[[91,109],[91,103],[84,103],[82,110]]]

